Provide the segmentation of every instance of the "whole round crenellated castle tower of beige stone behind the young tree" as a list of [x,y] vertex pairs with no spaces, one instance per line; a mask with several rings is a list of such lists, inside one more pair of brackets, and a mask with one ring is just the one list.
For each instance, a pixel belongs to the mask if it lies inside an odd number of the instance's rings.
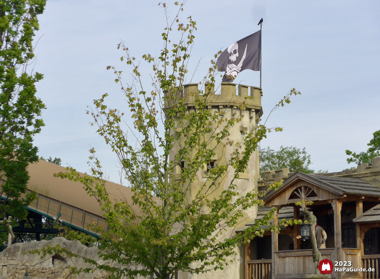
[[[209,94],[203,94],[210,90]],[[234,153],[236,143],[241,143],[243,138],[247,135],[247,132],[253,131],[262,116],[261,96],[262,90],[258,87],[237,85],[234,83],[221,83],[220,94],[215,94],[213,87],[199,86],[199,84],[186,84],[183,88],[178,88],[176,92],[177,96],[171,96],[165,99],[165,109],[174,106],[179,100],[184,105],[184,111],[177,113],[175,131],[180,131],[183,128],[183,118],[189,113],[196,111],[195,101],[198,97],[204,98],[207,96],[207,110],[211,111],[211,116],[217,116],[221,121],[211,122],[211,131],[205,132],[201,141],[208,143],[208,148],[213,149],[215,155],[210,158],[209,162],[205,162],[203,169],[199,169],[195,173],[195,179],[190,185],[189,199],[193,200],[195,195],[206,183],[209,177],[209,170],[216,165],[227,165],[231,155]],[[224,143],[217,145],[215,138],[212,138],[215,133],[221,131],[226,123],[232,118],[240,118],[239,121],[231,128],[229,128],[229,135],[226,137]],[[219,123],[218,123],[219,122]],[[233,144],[230,144],[233,143]],[[175,160],[178,152],[184,148],[185,136],[179,136],[174,143],[172,150],[169,153],[170,161]],[[176,158],[178,160],[178,157]],[[176,167],[177,175],[180,174],[181,168],[186,168],[188,162],[180,161]],[[226,190],[234,179],[234,169],[230,166],[225,176],[219,179],[218,188],[214,191],[215,197],[219,196],[221,191]],[[248,162],[248,166],[244,172],[239,173],[239,178],[234,180],[234,184],[237,186],[236,191],[243,195],[248,191],[257,190],[257,181],[259,179],[259,160],[258,150],[254,151]],[[220,183],[220,184],[219,184]],[[248,208],[244,211],[243,218],[236,228],[229,228],[229,232],[223,235],[234,234],[235,231],[243,227],[246,223],[253,221],[256,217],[257,208]],[[209,278],[243,278],[244,277],[244,247],[237,247],[236,252],[238,257],[234,257],[234,263],[229,265],[228,269],[219,270],[207,274]],[[189,276],[189,274],[183,274],[183,278],[195,278],[197,275]],[[202,275],[200,275],[202,277]]]

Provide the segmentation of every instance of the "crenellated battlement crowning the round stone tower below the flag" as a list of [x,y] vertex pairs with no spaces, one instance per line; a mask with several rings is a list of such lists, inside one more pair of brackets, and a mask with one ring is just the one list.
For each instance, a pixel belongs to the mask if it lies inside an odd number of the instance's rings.
[[[238,87],[236,88],[236,86]],[[179,98],[184,98],[185,106],[193,107],[195,94],[198,94],[199,92],[206,92],[206,90],[207,84],[204,86],[204,88],[199,88],[198,83],[185,84],[182,88],[177,90],[176,96],[173,96],[171,99],[165,99],[165,108],[169,108],[173,103],[177,102]],[[247,98],[248,96],[252,96],[252,98]],[[210,94],[208,94],[208,101],[211,108],[220,108],[220,106],[239,106],[239,104],[244,103],[245,110],[253,109],[255,111],[258,111],[259,115],[261,116],[261,96],[262,90],[259,87],[222,82],[220,94],[215,94],[214,87],[212,87]]]

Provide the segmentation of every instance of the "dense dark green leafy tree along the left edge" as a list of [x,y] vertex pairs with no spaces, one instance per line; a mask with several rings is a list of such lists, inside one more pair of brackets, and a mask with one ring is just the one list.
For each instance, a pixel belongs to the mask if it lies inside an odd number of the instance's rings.
[[[33,59],[32,39],[39,29],[37,15],[42,14],[45,0],[0,1],[0,219],[10,215],[23,219],[34,195],[26,193],[29,180],[26,167],[38,160],[33,135],[41,131],[40,117],[45,108],[35,96],[35,83],[43,75],[26,73]],[[6,222],[2,223],[6,226]],[[0,238],[7,231],[1,229]]]

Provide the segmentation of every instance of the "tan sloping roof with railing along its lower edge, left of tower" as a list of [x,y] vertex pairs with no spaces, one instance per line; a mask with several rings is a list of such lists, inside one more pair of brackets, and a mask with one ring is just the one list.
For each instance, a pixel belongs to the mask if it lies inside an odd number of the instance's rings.
[[[28,205],[28,210],[52,219],[58,218],[66,225],[98,236],[99,232],[88,226],[95,224],[106,229],[104,212],[96,198],[87,194],[81,183],[54,177],[54,173],[66,171],[65,167],[44,160],[28,166],[30,179],[27,188],[37,194],[37,198]],[[130,188],[113,182],[106,182],[105,187],[111,201],[125,200],[135,214],[140,214],[140,208],[132,202]],[[155,200],[159,202],[159,198]]]

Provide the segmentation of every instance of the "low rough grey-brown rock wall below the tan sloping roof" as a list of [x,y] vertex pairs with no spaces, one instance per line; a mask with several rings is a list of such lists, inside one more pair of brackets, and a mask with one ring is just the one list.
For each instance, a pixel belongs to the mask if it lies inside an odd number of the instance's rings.
[[[99,259],[96,247],[88,248],[80,241],[67,240],[64,237],[56,237],[52,240],[29,241],[25,243],[15,243],[0,253],[0,265],[3,266],[4,278],[23,278],[28,272],[30,278],[62,278],[62,279],[100,279],[107,278],[108,274],[104,270],[96,270],[93,273],[71,274],[69,266],[91,267],[79,258],[70,258],[62,255],[41,255],[31,254],[29,251],[42,250],[44,247],[54,247],[60,245],[67,250],[86,258],[96,260],[99,264],[106,263]],[[108,262],[108,264],[110,264]],[[137,267],[136,267],[137,268]]]

